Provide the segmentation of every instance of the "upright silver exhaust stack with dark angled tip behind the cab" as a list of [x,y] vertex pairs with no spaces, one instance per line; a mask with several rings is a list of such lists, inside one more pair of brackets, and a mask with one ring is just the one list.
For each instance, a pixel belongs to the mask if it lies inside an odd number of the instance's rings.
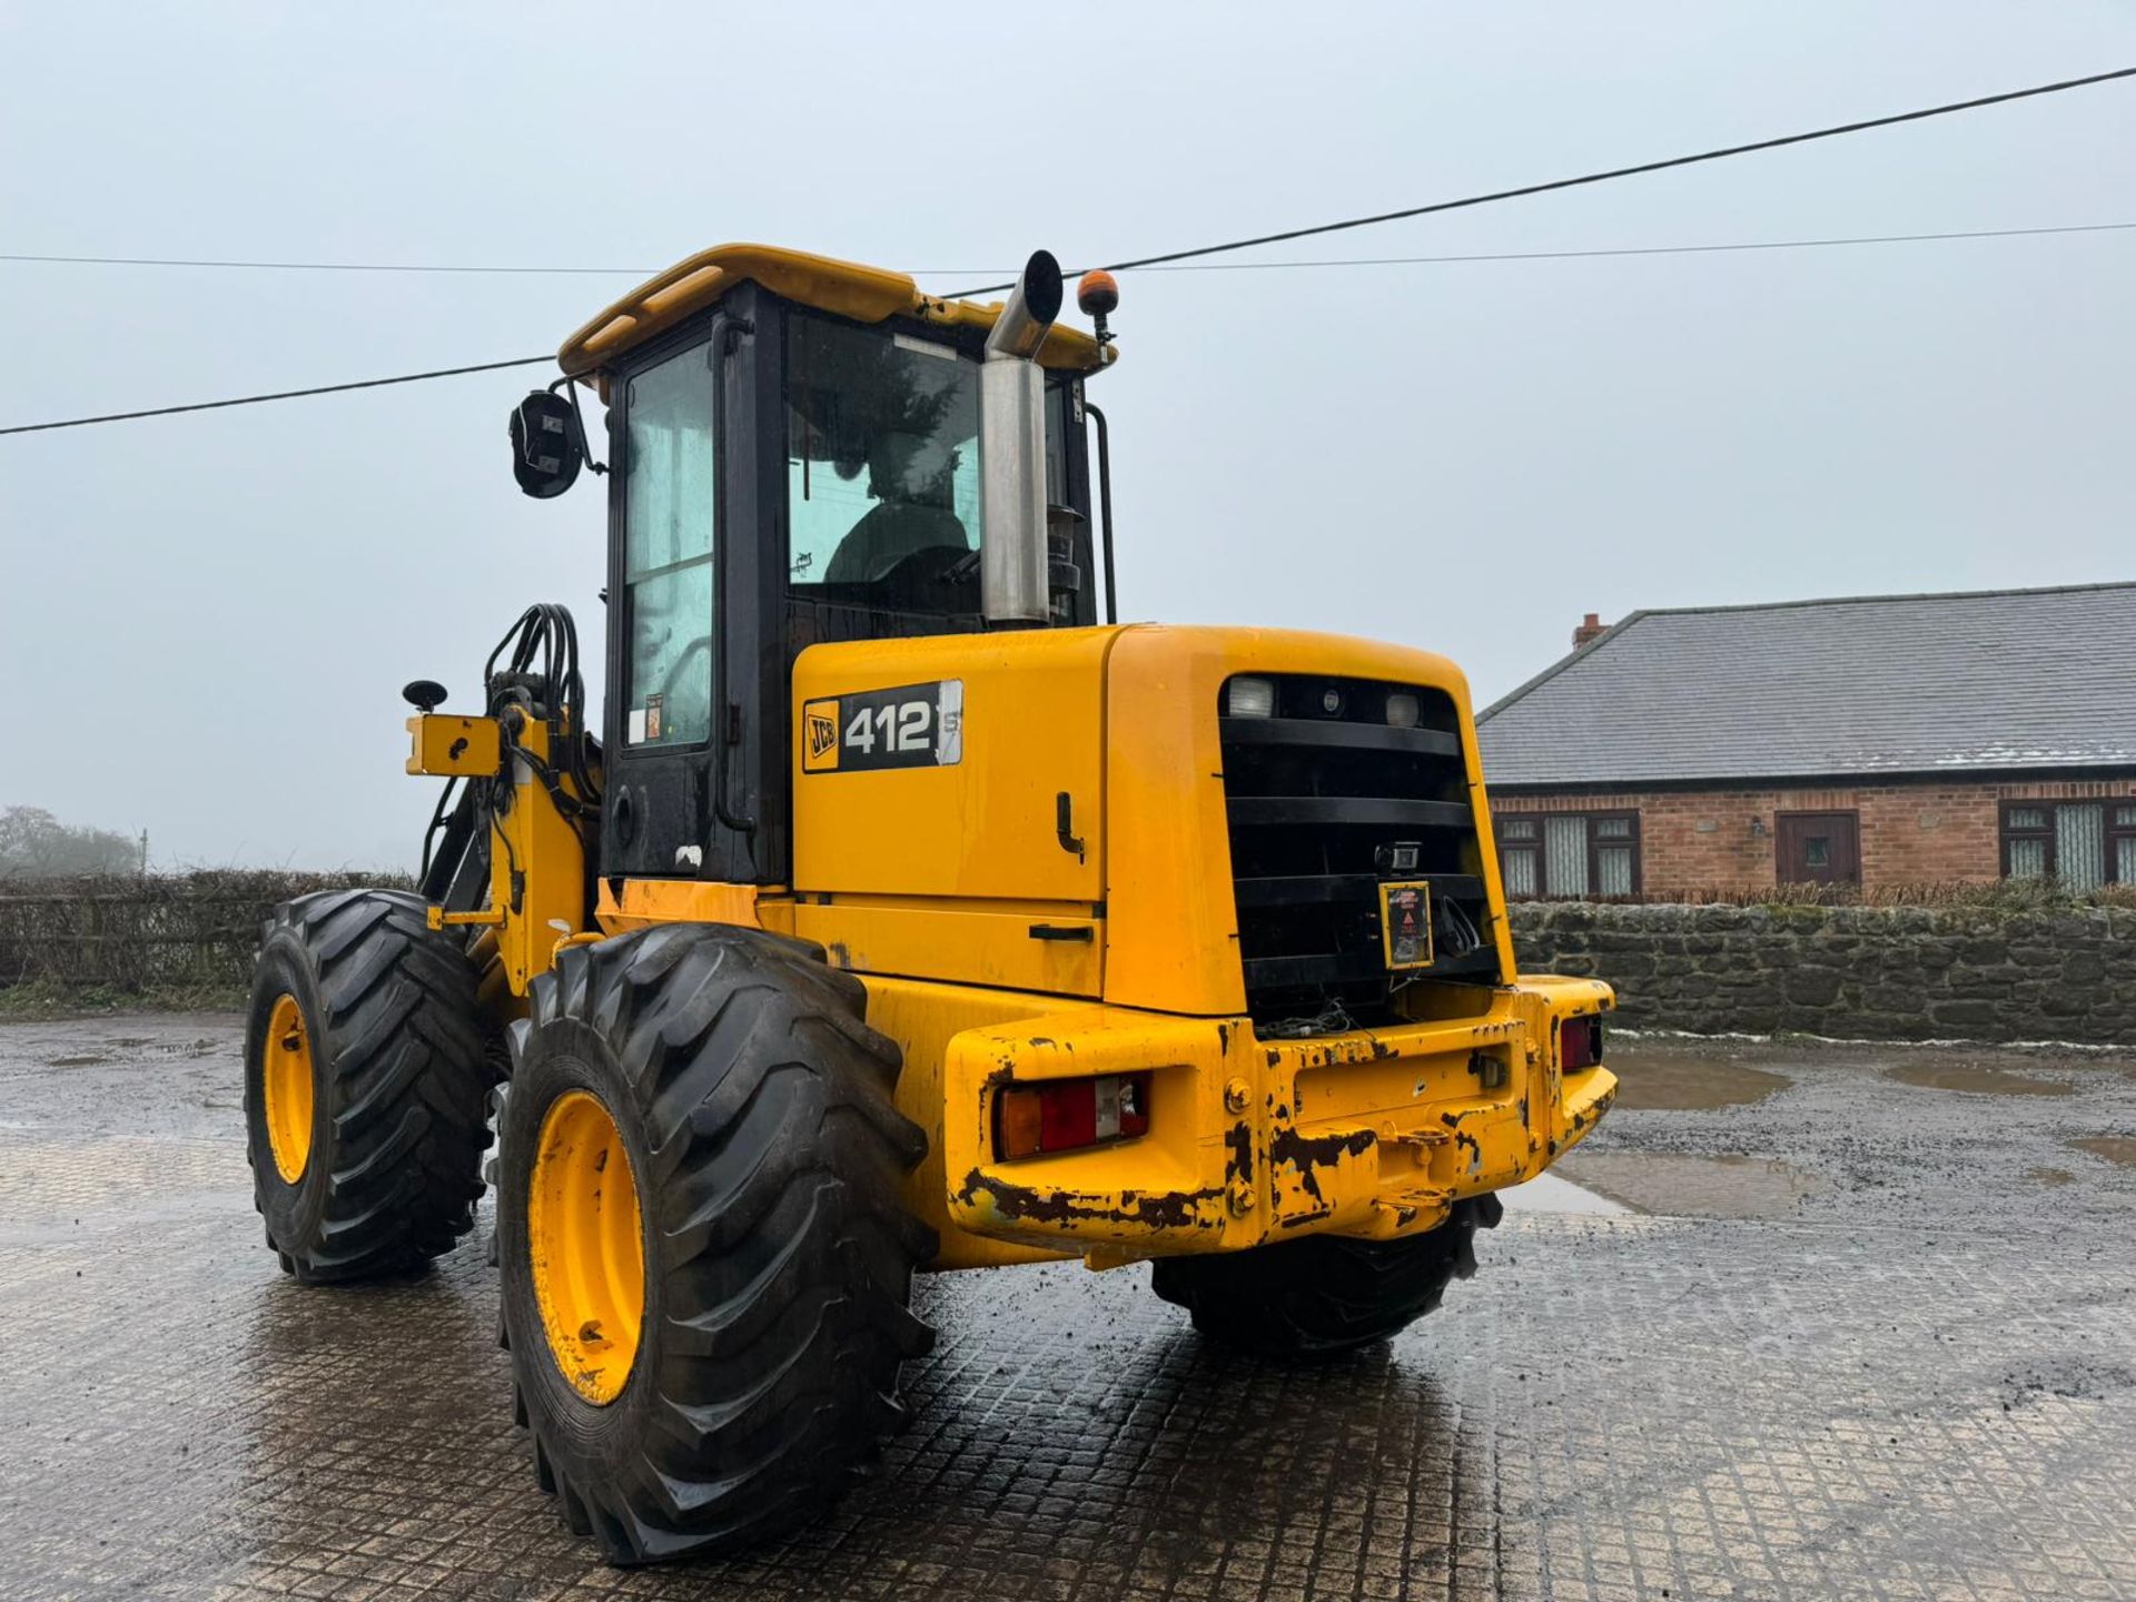
[[989,624],[1042,624],[1047,590],[1047,380],[1038,367],[1062,312],[1062,267],[1049,250],[1023,265],[987,335],[980,367],[980,607]]

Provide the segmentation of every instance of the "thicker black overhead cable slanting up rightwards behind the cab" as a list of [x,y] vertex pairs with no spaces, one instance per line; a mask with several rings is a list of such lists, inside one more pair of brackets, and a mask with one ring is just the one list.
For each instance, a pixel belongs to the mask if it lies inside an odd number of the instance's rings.
[[[1412,207],[1403,207],[1399,211],[1378,211],[1373,216],[1363,216],[1363,218],[1344,218],[1341,222],[1316,222],[1316,224],[1305,226],[1305,229],[1284,229],[1282,233],[1262,233],[1262,235],[1254,235],[1254,237],[1247,237],[1247,239],[1228,239],[1228,241],[1215,244],[1215,246],[1194,246],[1190,250],[1168,250],[1168,252],[1158,254],[1158,256],[1136,256],[1132,261],[1109,263],[1109,271],[1128,271],[1132,267],[1164,267],[1164,265],[1171,265],[1171,263],[1192,261],[1192,258],[1198,258],[1198,256],[1222,256],[1222,254],[1228,254],[1228,252],[1235,252],[1235,250],[1252,250],[1254,246],[1273,246],[1273,244],[1284,244],[1288,239],[1309,239],[1309,237],[1316,237],[1316,235],[1322,235],[1322,233],[1346,233],[1350,229],[1371,229],[1371,226],[1378,226],[1382,222],[1401,222],[1405,218],[1420,218],[1420,216],[1431,216],[1431,214],[1438,214],[1438,211],[1459,211],[1459,209],[1476,207],[1476,205],[1493,205],[1497,201],[1517,201],[1517,199],[1523,199],[1523,197],[1529,197],[1529,194],[1549,194],[1549,192],[1555,192],[1555,190],[1570,190],[1570,188],[1581,188],[1581,186],[1587,186],[1587,184],[1608,184],[1608,182],[1619,179],[1619,177],[1638,177],[1643,173],[1662,173],[1662,171],[1668,171],[1672,167],[1694,167],[1698,162],[1726,160],[1728,156],[1747,156],[1747,154],[1754,154],[1754,152],[1760,152],[1760,150],[1781,150],[1786,145],[1805,145],[1805,143],[1811,143],[1816,139],[1837,139],[1841,135],[1867,132],[1869,128],[1890,128],[1890,126],[1901,124],[1901,122],[1925,122],[1927,117],[1948,117],[1948,115],[1959,113],[1959,111],[1978,111],[1980,107],[2008,105],[2010,100],[2031,100],[2031,98],[2038,98],[2042,94],[2061,94],[2066,90],[2080,90],[2080,88],[2089,88],[2093,83],[2113,83],[2117,79],[2130,79],[2130,77],[2136,77],[2136,66],[2121,66],[2121,68],[2115,68],[2110,73],[2091,73],[2087,77],[2061,79],[2057,83],[2036,83],[2029,90],[2008,90],[2004,94],[1984,94],[1984,96],[1978,96],[1974,100],[1952,100],[1948,105],[1922,107],[1918,111],[1899,111],[1899,113],[1888,115],[1888,117],[1867,117],[1863,122],[1843,122],[1843,124],[1833,124],[1828,128],[1811,128],[1809,132],[1779,135],[1777,139],[1758,139],[1758,141],[1747,143],[1747,145],[1724,145],[1724,147],[1717,147],[1717,150],[1696,152],[1692,156],[1670,156],[1666,160],[1638,162],[1634,167],[1611,167],[1611,169],[1604,169],[1604,171],[1598,171],[1598,173],[1581,173],[1579,177],[1557,177],[1557,179],[1551,179],[1546,184],[1523,184],[1521,188],[1510,188],[1510,190],[1491,190],[1487,194],[1467,194],[1467,197],[1463,197],[1459,201],[1433,201],[1429,205],[1412,205]],[[2125,224],[2091,224],[2091,226],[2115,229],[2115,226],[2125,226]],[[1892,235],[1890,239],[1897,239],[1897,235]],[[1799,241],[1799,244],[1809,244],[1809,241]],[[1867,241],[1863,241],[1863,244],[1867,244]],[[1679,246],[1675,250],[1685,250],[1685,248]],[[1534,254],[1574,254],[1574,252],[1534,252]],[[1576,252],[1576,254],[1587,254],[1587,252]],[[1600,254],[1600,252],[1596,252],[1596,254]],[[1239,265],[1250,265],[1250,263],[1239,263]],[[1301,265],[1337,265],[1337,263],[1301,263]],[[1339,265],[1367,265],[1367,263],[1358,261],[1358,263],[1339,263]],[[980,284],[976,288],[955,290],[955,293],[944,295],[940,299],[965,299],[965,297],[972,297],[972,295],[993,295],[998,290],[1006,290],[1006,288],[1012,288],[1012,286],[1015,286],[1012,282],[1008,282],[1008,284]],[[152,406],[152,408],[132,410],[132,412],[105,412],[100,417],[73,417],[73,419],[56,421],[56,423],[17,423],[13,427],[0,427],[0,436],[4,436],[4,434],[45,434],[49,429],[88,427],[92,423],[126,423],[126,421],[132,421],[132,419],[143,419],[143,417],[175,417],[179,412],[211,412],[211,410],[222,410],[222,408],[229,408],[229,406],[258,406],[263,402],[299,399],[303,395],[335,395],[335,393],[350,391],[350,389],[380,389],[384,384],[417,384],[417,382],[423,382],[423,380],[429,380],[429,378],[453,378],[453,376],[472,374],[472,372],[498,372],[502,367],[532,367],[532,365],[545,363],[545,361],[549,361],[547,355],[543,355],[543,357],[513,357],[511,361],[485,361],[485,363],[474,363],[474,365],[466,365],[466,367],[436,367],[431,372],[399,374],[395,378],[359,378],[359,380],[346,382],[346,384],[314,384],[310,389],[284,389],[284,391],[267,393],[267,395],[237,395],[233,399],[220,399],[220,402],[190,402],[186,406]]]

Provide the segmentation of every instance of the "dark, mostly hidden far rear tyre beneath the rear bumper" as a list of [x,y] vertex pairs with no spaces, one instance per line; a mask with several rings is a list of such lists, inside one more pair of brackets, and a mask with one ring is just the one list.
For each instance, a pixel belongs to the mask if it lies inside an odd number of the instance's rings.
[[1222,1346],[1269,1358],[1335,1356],[1399,1335],[1476,1273],[1474,1235],[1504,1215],[1497,1196],[1455,1203],[1429,1235],[1350,1241],[1307,1235],[1196,1258],[1158,1258],[1149,1286]]

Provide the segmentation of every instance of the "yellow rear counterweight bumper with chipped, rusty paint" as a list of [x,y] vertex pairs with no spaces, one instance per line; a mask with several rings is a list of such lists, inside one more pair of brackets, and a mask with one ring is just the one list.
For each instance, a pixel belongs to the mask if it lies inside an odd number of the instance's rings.
[[[1309,1040],[1109,1006],[965,1030],[944,1064],[948,1215],[1094,1262],[1416,1235],[1542,1173],[1608,1111],[1615,1077],[1561,1072],[1557,1023],[1613,1004],[1596,980],[1523,978],[1474,1017]],[[1126,1072],[1149,1074],[1147,1134],[998,1158],[1008,1085]]]

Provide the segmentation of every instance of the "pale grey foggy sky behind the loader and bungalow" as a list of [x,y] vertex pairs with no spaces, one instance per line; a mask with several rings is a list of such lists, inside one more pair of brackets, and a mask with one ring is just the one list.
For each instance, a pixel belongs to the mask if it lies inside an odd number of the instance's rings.
[[[0,250],[760,239],[953,290],[2136,62],[2110,4],[998,11],[0,0]],[[2106,85],[1256,254],[2130,222],[2132,177]],[[632,282],[0,263],[0,425],[553,350]],[[2132,286],[2132,233],[1130,273],[1121,611],[1423,645],[1482,705],[1585,611],[2130,579]],[[472,709],[532,600],[598,662],[600,487],[508,472],[536,374],[0,438],[0,803],[412,865],[399,686]]]

